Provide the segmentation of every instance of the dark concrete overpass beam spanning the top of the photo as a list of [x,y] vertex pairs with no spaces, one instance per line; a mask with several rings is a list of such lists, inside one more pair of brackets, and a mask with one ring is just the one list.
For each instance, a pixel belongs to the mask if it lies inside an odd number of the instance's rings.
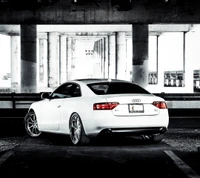
[[30,4],[27,2],[24,1],[23,5],[20,3],[1,2],[0,24],[151,24],[200,22],[200,3],[194,0],[167,2],[164,0],[132,0],[127,5],[124,5],[124,3],[130,1],[122,1],[121,6],[112,3],[116,1],[111,0],[79,0],[78,2],[82,2],[80,4],[73,3],[73,0],[59,0],[58,3]]

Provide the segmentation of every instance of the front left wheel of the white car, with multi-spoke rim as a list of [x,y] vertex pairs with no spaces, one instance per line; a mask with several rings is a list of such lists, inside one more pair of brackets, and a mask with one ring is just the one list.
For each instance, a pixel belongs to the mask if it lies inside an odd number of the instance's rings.
[[38,129],[37,118],[33,110],[29,111],[24,117],[24,126],[26,133],[31,137],[38,137],[41,132]]

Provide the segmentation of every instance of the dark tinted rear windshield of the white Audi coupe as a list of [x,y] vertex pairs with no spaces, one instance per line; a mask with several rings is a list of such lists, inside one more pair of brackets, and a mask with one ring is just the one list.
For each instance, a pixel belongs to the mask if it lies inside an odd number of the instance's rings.
[[105,82],[88,84],[88,87],[97,95],[106,94],[150,94],[147,90],[133,83]]

